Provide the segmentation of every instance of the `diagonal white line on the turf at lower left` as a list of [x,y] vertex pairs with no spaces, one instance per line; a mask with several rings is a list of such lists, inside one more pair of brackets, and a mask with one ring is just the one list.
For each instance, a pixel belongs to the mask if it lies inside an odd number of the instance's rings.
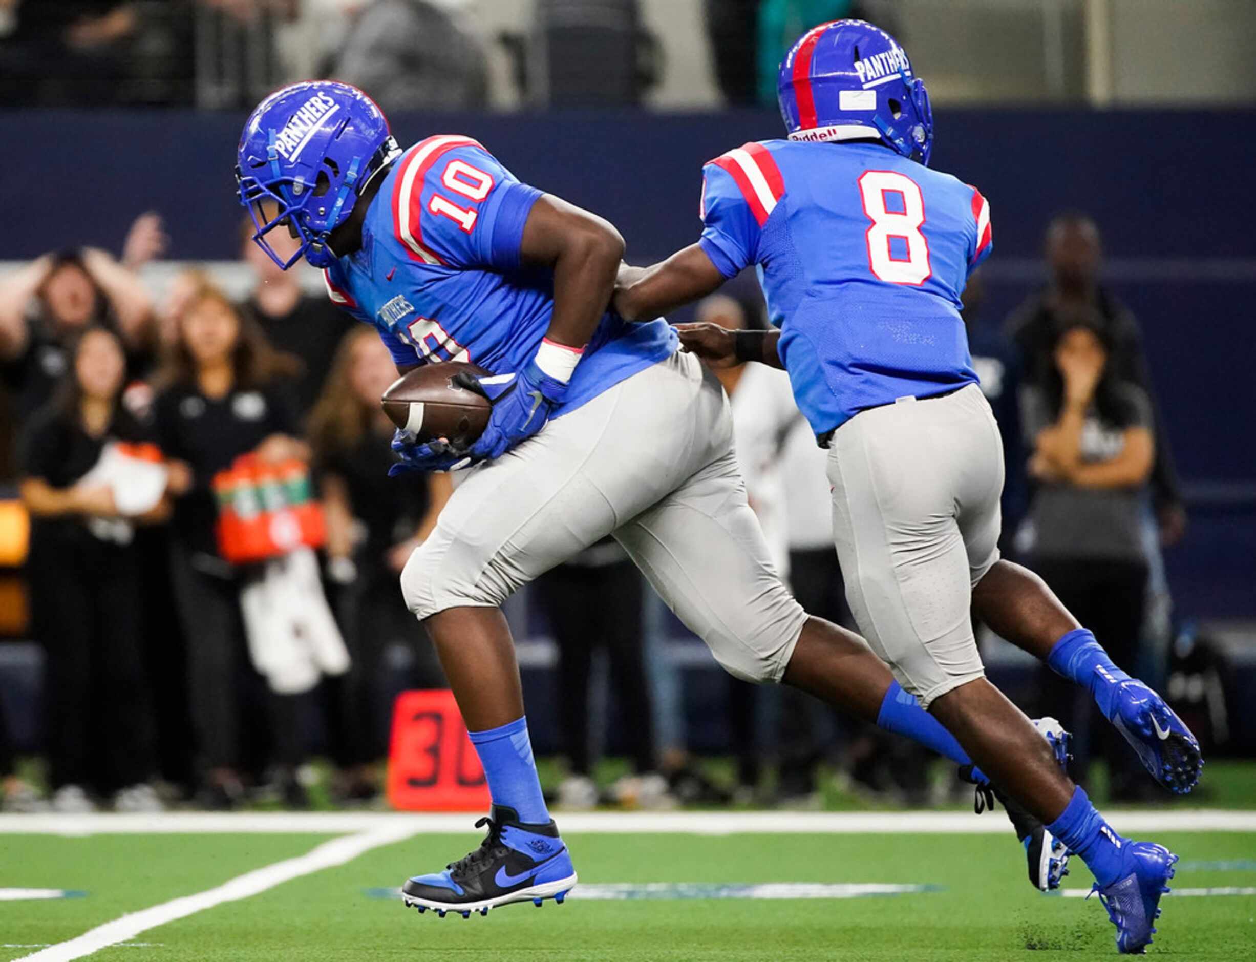
[[21,958],[28,962],[70,962],[70,959],[83,958],[98,952],[107,946],[119,942],[129,942],[141,932],[165,926],[180,918],[186,918],[207,908],[221,905],[224,902],[236,902],[250,898],[284,882],[290,882],[313,872],[343,865],[353,862],[358,855],[381,845],[391,845],[403,841],[414,834],[412,825],[397,821],[392,825],[381,825],[357,835],[347,835],[339,839],[324,841],[304,855],[293,859],[276,862],[274,865],[246,872],[234,879],[222,883],[217,888],[198,892],[195,895],[183,895],[160,905],[132,912],[97,926],[90,932],[84,932],[78,938],[68,942],[59,942],[45,949]]

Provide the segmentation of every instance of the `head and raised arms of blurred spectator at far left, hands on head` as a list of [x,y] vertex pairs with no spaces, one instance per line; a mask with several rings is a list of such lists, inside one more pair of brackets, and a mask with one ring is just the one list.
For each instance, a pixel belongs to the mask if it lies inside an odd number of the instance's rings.
[[[126,245],[133,262],[144,246],[134,236],[151,226],[141,221]],[[89,324],[114,329],[127,352],[128,374],[144,373],[151,316],[143,283],[103,250],[45,254],[0,279],[0,377],[11,396],[13,416],[20,423],[51,398],[68,367],[69,342]]]

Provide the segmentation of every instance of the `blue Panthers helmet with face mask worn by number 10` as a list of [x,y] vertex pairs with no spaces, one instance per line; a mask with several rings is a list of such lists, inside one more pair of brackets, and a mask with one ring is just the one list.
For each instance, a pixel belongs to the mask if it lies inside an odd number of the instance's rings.
[[[348,220],[371,177],[399,154],[388,119],[357,87],[305,80],[276,90],[240,136],[236,183],[252,215],[254,241],[284,270],[303,256],[330,266],[332,231]],[[286,261],[266,241],[279,226],[301,242]]]

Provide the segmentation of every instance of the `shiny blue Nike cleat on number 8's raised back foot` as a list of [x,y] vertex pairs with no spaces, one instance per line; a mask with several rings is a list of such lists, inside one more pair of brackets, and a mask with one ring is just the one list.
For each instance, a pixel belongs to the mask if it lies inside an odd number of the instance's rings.
[[[1098,669],[1105,674],[1103,669]],[[1105,707],[1103,702],[1107,702]],[[1138,752],[1143,767],[1172,792],[1184,795],[1199,784],[1199,742],[1164,700],[1135,678],[1114,682],[1100,707]]]

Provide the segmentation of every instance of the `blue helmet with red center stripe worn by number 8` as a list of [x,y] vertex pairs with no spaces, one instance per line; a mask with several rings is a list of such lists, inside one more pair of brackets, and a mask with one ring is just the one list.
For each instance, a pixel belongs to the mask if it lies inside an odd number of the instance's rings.
[[929,162],[929,94],[879,26],[834,20],[808,30],[781,62],[776,95],[791,141],[879,139]]

